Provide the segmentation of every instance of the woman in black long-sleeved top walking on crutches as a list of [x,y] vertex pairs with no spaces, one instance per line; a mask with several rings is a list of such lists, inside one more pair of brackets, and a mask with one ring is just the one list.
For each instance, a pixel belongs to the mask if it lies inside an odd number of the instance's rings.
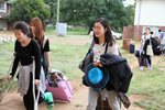
[[[33,100],[33,59],[35,57],[35,86],[40,86],[41,75],[41,51],[37,42],[33,40],[33,34],[30,26],[20,21],[14,25],[14,34],[16,37],[15,41],[15,59],[13,62],[12,73],[9,75],[9,80],[14,76],[18,65],[20,66],[19,70],[19,92],[23,96],[23,102],[26,110],[34,110],[34,100]],[[43,76],[44,77],[44,76]],[[46,94],[51,96],[52,94]],[[41,101],[46,98],[45,95],[40,97]],[[40,102],[38,102],[40,103]]]

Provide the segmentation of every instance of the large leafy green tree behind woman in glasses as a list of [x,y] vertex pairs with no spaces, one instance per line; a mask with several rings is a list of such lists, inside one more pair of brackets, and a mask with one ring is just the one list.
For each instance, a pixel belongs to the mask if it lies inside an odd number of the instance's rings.
[[[59,22],[85,25],[89,31],[97,18],[107,18],[113,30],[129,25],[130,20],[122,0],[61,0],[59,10]],[[56,22],[56,11],[53,22]]]

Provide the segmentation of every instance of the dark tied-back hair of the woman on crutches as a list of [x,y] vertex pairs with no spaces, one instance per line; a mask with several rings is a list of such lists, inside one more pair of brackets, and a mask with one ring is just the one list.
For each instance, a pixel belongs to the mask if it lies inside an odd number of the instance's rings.
[[31,28],[24,21],[16,22],[14,24],[13,29],[14,30],[21,30],[29,37],[33,38],[33,32],[32,32]]

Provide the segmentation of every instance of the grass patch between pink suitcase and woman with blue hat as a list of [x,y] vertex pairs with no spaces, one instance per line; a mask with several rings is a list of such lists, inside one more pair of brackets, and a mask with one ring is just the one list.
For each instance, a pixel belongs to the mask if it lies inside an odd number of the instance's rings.
[[73,45],[52,43],[51,44],[51,68],[61,70],[69,79],[81,78],[84,75],[78,64],[85,57],[89,44]]

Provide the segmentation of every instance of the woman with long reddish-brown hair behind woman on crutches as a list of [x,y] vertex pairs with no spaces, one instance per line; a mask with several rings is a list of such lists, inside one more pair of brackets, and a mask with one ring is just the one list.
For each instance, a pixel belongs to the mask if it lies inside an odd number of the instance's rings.
[[33,18],[30,21],[30,26],[34,32],[34,38],[37,41],[42,53],[42,66],[45,72],[45,78],[51,70],[50,67],[50,40],[44,35],[42,21],[40,18]]

